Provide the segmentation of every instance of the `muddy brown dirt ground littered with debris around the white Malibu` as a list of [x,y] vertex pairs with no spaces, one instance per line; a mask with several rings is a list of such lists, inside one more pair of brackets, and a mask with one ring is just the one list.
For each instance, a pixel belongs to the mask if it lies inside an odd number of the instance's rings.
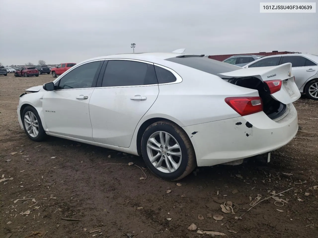
[[[209,236],[188,230],[191,223],[229,238],[318,237],[318,101],[294,103],[301,130],[272,152],[270,163],[258,157],[199,168],[177,186],[141,169],[141,157],[53,137],[28,139],[17,122],[19,95],[52,79],[0,76],[0,176],[8,179],[0,182],[0,238]],[[244,214],[258,194],[290,188],[277,195],[284,206],[270,198]],[[227,201],[235,214],[221,211]]]

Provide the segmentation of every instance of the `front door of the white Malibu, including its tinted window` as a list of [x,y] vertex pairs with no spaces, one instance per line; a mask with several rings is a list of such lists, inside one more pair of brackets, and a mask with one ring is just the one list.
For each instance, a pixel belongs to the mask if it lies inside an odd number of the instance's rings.
[[48,132],[93,141],[89,100],[102,63],[83,63],[57,80],[54,91],[45,91],[43,114]]

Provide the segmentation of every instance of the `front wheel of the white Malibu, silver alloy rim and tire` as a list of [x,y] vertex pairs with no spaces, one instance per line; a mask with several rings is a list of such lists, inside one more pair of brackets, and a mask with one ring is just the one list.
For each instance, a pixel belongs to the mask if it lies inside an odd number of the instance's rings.
[[43,141],[46,133],[43,129],[41,118],[35,108],[26,106],[22,112],[22,123],[26,135],[32,141]]

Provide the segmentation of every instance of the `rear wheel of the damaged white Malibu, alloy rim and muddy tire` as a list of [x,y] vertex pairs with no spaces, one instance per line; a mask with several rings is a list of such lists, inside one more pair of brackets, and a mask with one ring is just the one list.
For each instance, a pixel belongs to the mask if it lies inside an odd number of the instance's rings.
[[172,122],[151,124],[143,133],[141,150],[151,172],[166,180],[182,179],[197,166],[189,136]]

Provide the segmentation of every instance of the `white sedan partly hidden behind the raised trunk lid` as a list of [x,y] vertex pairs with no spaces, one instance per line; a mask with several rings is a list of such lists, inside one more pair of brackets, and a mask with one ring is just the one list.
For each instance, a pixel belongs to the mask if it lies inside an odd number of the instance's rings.
[[286,54],[262,57],[243,68],[277,66],[292,63],[295,83],[301,93],[318,100],[318,56],[311,54]]

